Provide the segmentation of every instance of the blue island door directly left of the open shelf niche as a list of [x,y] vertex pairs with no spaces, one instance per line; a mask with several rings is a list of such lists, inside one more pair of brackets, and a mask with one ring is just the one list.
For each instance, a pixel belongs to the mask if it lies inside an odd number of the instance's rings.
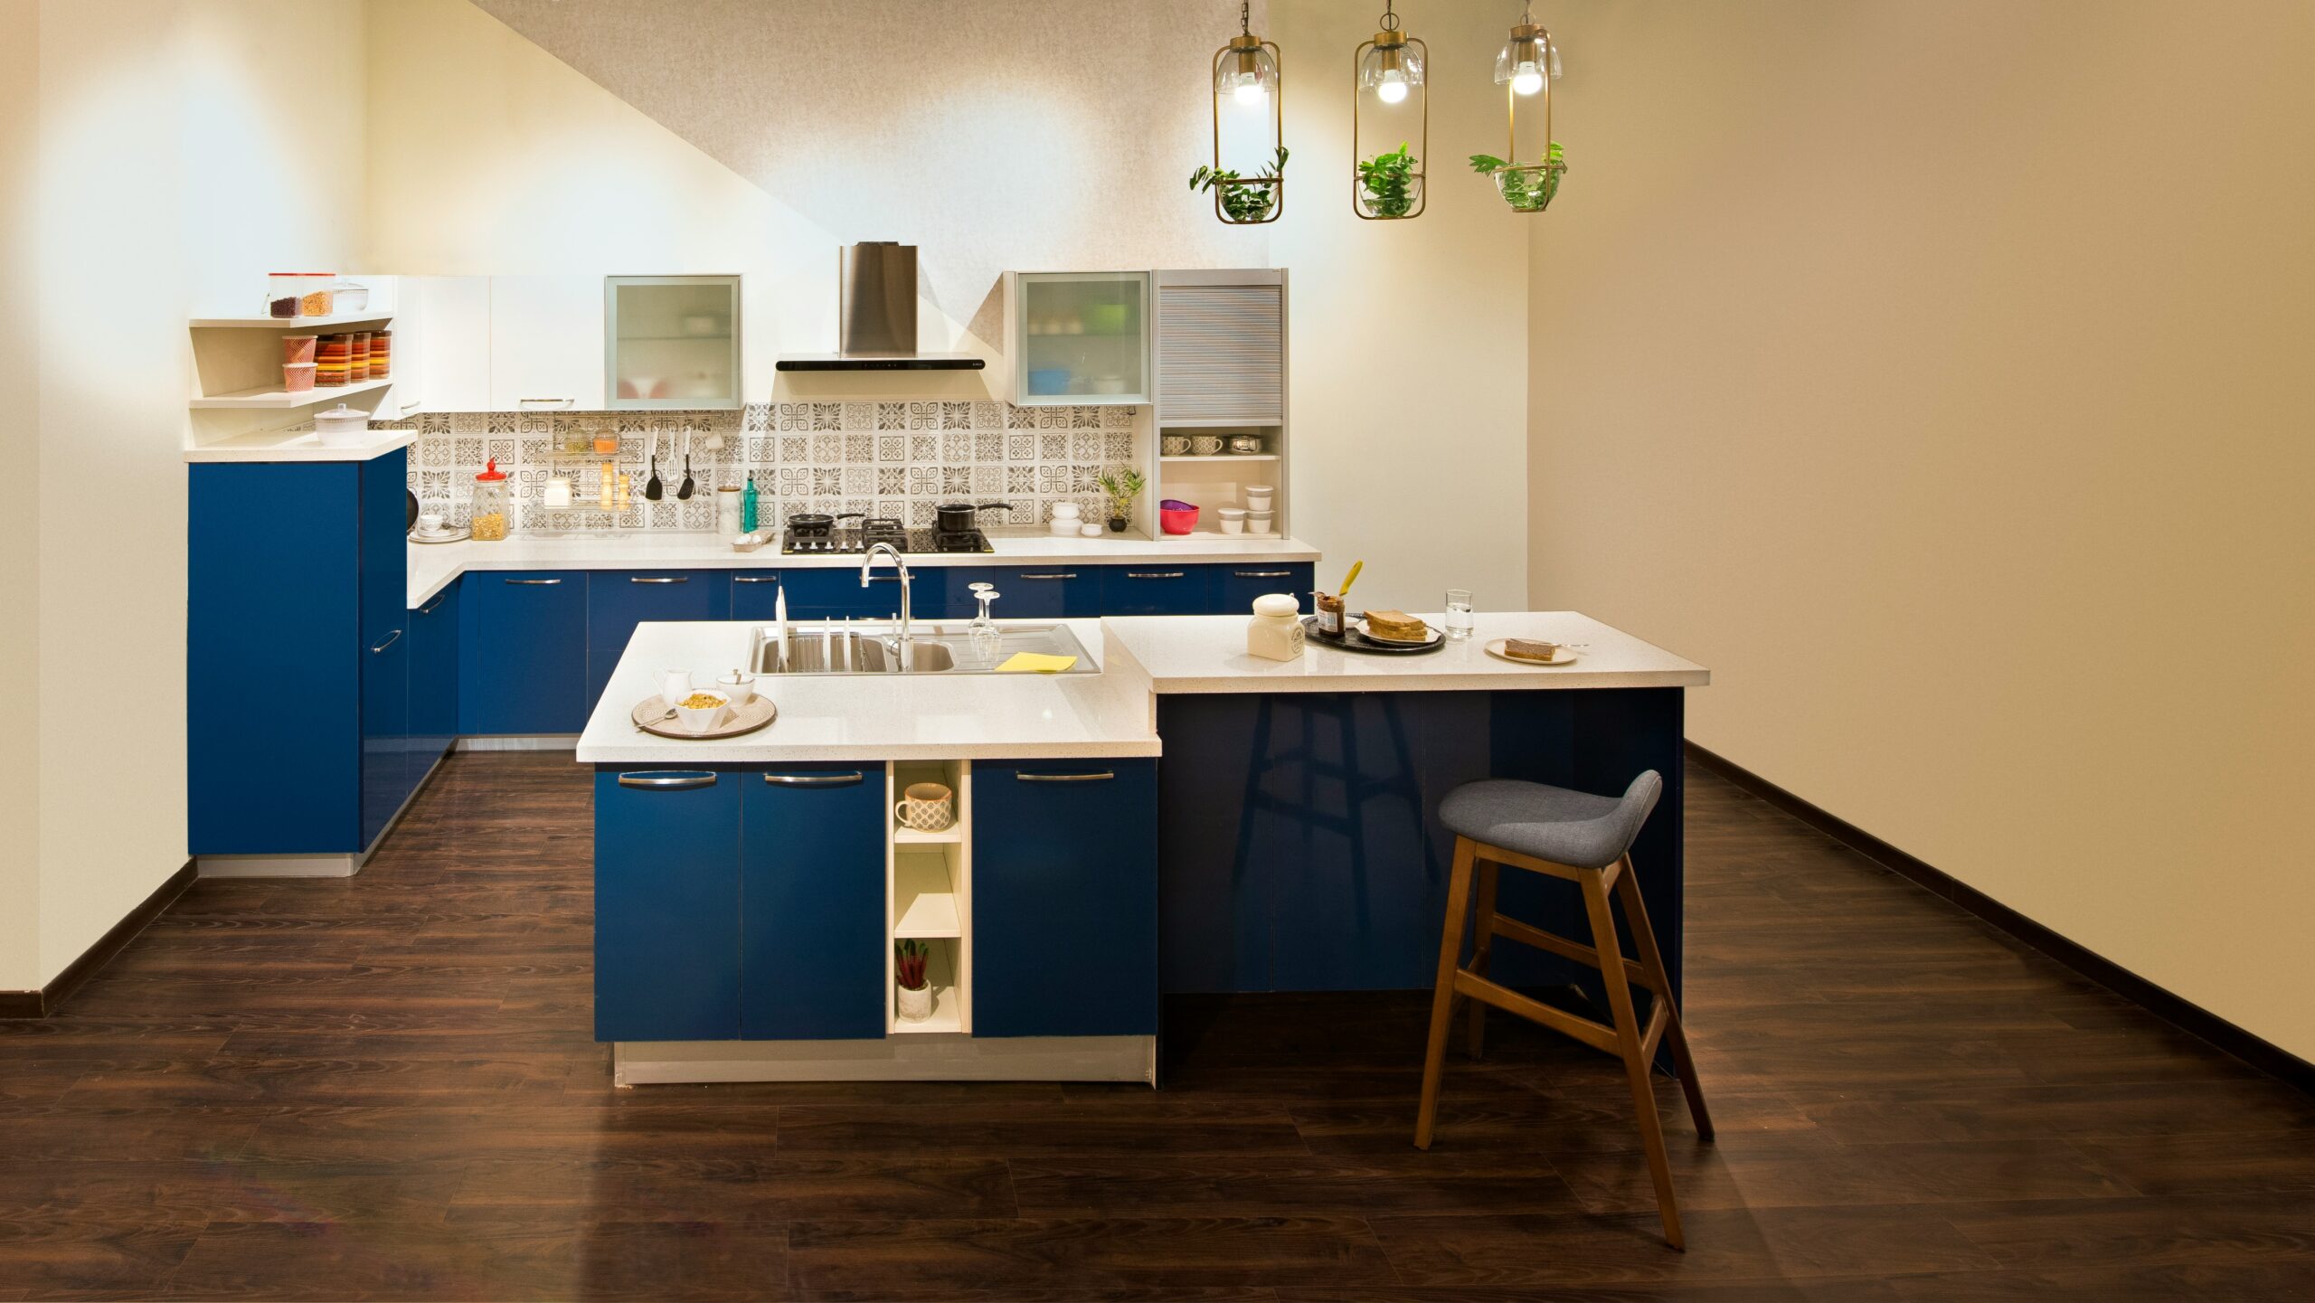
[[884,766],[738,775],[741,1032],[884,1035]]

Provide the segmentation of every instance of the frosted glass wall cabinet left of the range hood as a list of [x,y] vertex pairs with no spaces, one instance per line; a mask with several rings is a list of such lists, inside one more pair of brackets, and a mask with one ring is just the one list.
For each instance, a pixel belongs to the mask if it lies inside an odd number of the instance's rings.
[[611,275],[604,407],[738,407],[738,278]]

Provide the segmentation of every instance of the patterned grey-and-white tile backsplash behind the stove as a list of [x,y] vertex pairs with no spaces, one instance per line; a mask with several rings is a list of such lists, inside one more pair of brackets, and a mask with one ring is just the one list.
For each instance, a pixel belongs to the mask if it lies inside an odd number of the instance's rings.
[[[1107,500],[1093,477],[1139,465],[1134,407],[1014,407],[1009,403],[750,403],[738,412],[428,412],[396,428],[410,444],[410,491],[419,509],[465,523],[475,474],[498,458],[514,486],[516,530],[616,532],[713,530],[715,491],[755,474],[759,521],[787,511],[866,511],[928,528],[938,502],[1012,502],[1012,521],[1039,525],[1056,502],[1076,502],[1088,521]],[[613,472],[632,477],[625,509],[593,509],[602,456],[563,454],[597,433],[618,435]],[[683,437],[692,440],[690,502]],[[711,435],[722,449],[708,451]],[[660,449],[667,495],[644,500],[648,449]],[[576,509],[549,509],[546,481],[565,474]],[[993,516],[1005,521],[1005,516]]]

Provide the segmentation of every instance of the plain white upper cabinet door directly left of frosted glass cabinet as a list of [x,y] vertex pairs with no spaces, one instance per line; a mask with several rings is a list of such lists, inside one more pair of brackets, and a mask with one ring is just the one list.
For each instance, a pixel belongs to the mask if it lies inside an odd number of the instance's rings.
[[600,412],[602,278],[491,278],[491,410]]

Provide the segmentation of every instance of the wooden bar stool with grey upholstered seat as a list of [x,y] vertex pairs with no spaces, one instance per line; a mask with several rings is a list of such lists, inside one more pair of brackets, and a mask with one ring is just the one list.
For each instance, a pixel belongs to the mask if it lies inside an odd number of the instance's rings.
[[[1655,949],[1655,930],[1648,928],[1648,907],[1639,900],[1639,882],[1632,877],[1632,840],[1639,835],[1655,798],[1664,792],[1664,780],[1651,768],[1632,780],[1623,798],[1590,796],[1549,787],[1542,782],[1486,780],[1465,782],[1440,801],[1440,822],[1454,829],[1454,873],[1447,879],[1447,930],[1440,935],[1440,981],[1431,995],[1431,1048],[1424,1055],[1424,1102],[1414,1118],[1414,1148],[1431,1148],[1431,1125],[1440,1106],[1440,1069],[1447,1060],[1447,1030],[1454,1023],[1454,1002],[1470,1000],[1470,1053],[1479,1058],[1482,1021],[1486,1007],[1519,1014],[1530,1023],[1542,1023],[1565,1032],[1597,1051],[1623,1058],[1625,1076],[1632,1081],[1632,1109],[1639,1113],[1639,1139],[1648,1150],[1648,1176],[1655,1178],[1655,1206],[1664,1215],[1664,1238],[1671,1247],[1685,1250],[1681,1238],[1681,1213],[1671,1201],[1671,1160],[1664,1155],[1664,1127],[1655,1118],[1655,1090],[1648,1083],[1648,1065],[1655,1060],[1658,1041],[1671,1044],[1671,1062],[1688,1095],[1688,1116],[1697,1122],[1697,1134],[1713,1136],[1713,1118],[1704,1111],[1704,1088],[1697,1083],[1697,1065],[1688,1055],[1688,1037],[1681,1035],[1681,1011],[1671,1000],[1671,979],[1664,977],[1664,956]],[[1477,875],[1472,868],[1477,866]],[[1526,868],[1574,882],[1583,891],[1583,907],[1590,914],[1593,944],[1579,944],[1546,933],[1519,919],[1495,914],[1495,866]],[[1461,967],[1463,912],[1470,910],[1472,877],[1479,879],[1479,919],[1472,940],[1470,967]],[[1632,947],[1639,963],[1623,958],[1616,944],[1616,914],[1609,907],[1609,891],[1623,898],[1625,921],[1632,926]],[[1486,979],[1486,956],[1495,937],[1530,944],[1560,958],[1588,963],[1600,970],[1607,984],[1607,1004],[1616,1025],[1602,1025],[1577,1014],[1565,1014],[1530,1000],[1507,986]],[[1632,1014],[1632,984],[1646,986],[1655,998],[1648,1002],[1648,1021]]]

